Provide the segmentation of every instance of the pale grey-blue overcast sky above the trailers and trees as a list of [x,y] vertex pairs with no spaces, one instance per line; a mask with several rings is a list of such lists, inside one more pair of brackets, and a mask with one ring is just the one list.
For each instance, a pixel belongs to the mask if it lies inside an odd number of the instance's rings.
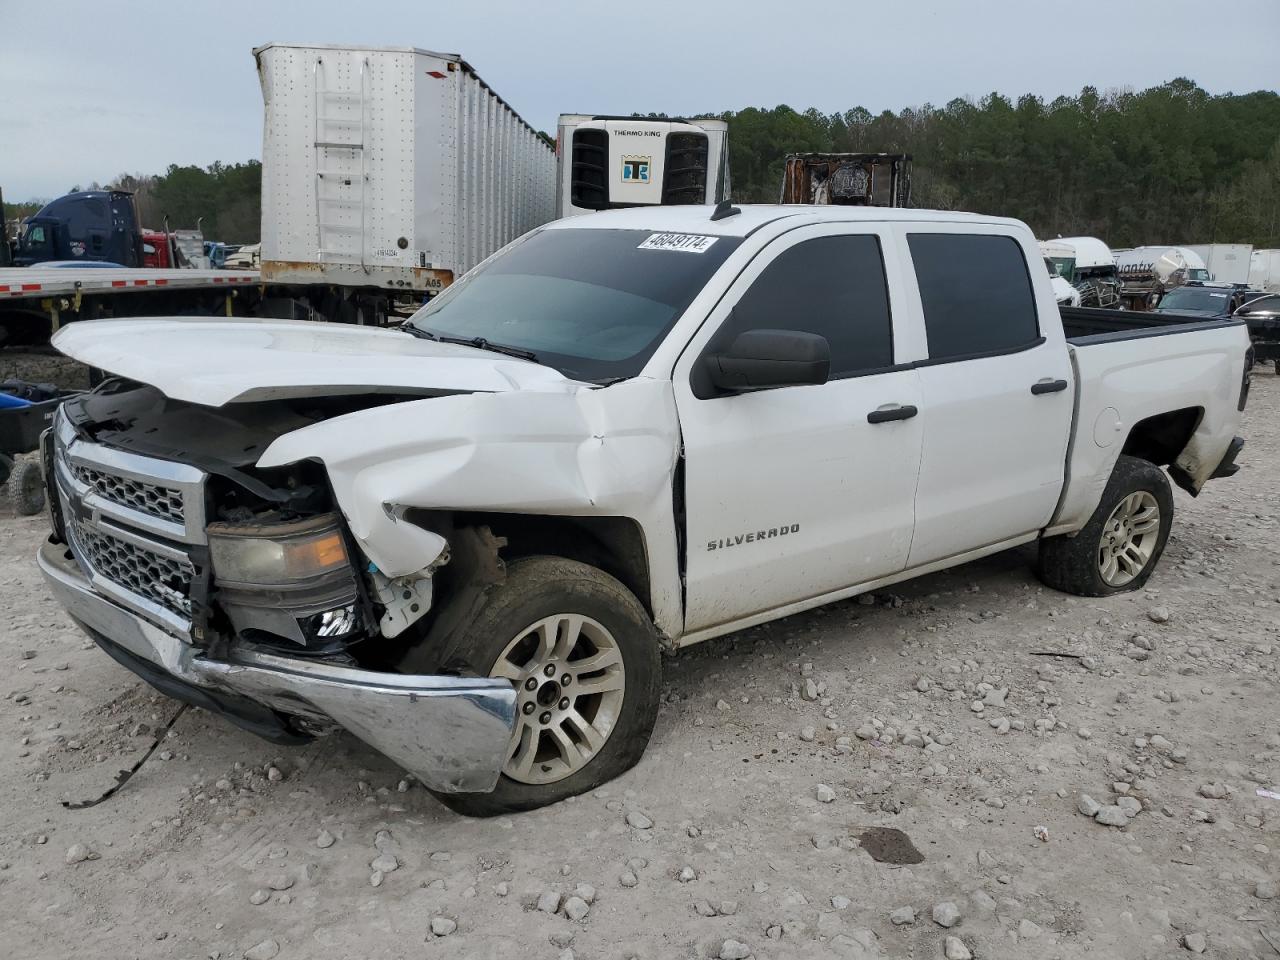
[[260,157],[251,50],[271,41],[457,52],[543,131],[561,113],[1280,84],[1280,0],[0,0],[5,198]]

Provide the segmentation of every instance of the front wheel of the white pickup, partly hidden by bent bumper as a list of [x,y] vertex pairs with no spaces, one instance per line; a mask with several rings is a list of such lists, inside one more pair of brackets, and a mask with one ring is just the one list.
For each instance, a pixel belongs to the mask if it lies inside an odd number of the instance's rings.
[[516,687],[516,731],[489,794],[435,794],[493,817],[576,796],[630,769],[658,717],[662,663],[644,607],[608,573],[559,557],[507,566],[445,666]]

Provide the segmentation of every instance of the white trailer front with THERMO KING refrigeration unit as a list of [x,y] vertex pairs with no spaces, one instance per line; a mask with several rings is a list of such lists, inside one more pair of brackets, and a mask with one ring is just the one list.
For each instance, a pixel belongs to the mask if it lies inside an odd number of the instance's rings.
[[556,151],[559,216],[730,197],[724,120],[561,114]]

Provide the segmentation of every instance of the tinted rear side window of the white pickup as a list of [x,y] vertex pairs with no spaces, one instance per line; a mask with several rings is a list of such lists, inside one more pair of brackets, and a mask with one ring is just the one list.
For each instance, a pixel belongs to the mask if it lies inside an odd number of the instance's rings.
[[929,360],[1025,347],[1039,338],[1036,296],[1012,237],[908,236]]

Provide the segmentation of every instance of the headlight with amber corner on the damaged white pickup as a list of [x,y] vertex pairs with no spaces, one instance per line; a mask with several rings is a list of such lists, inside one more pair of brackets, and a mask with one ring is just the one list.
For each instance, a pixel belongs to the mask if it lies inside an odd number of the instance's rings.
[[209,558],[219,584],[285,585],[349,570],[338,517],[285,524],[210,524]]

